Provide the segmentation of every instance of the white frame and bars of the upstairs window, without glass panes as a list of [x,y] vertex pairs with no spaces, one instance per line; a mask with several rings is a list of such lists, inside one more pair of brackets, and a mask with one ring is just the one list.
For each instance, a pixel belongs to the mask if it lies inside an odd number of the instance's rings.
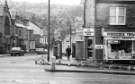
[[[111,9],[112,8],[115,8],[115,10],[116,10],[116,14],[115,15],[116,16],[111,16]],[[124,8],[123,16],[119,15],[120,8]],[[115,17],[116,18],[116,20],[115,20],[116,23],[111,22],[111,17]],[[124,17],[124,22],[123,23],[119,23],[119,17]],[[109,24],[110,25],[126,25],[126,7],[110,7],[110,11],[109,11]]]

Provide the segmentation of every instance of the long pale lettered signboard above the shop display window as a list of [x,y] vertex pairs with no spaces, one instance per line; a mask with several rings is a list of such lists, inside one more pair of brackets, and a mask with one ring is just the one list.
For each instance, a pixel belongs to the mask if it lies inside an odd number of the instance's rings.
[[135,37],[135,32],[104,32],[107,37]]

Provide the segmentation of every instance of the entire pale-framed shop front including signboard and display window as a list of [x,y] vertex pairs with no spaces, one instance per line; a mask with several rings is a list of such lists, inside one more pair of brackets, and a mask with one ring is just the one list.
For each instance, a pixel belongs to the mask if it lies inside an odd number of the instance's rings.
[[135,60],[135,32],[103,32],[105,60]]

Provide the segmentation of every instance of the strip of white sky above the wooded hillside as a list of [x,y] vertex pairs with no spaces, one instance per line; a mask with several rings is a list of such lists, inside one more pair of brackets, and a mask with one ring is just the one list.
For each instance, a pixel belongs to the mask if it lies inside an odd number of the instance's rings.
[[[47,3],[48,0],[13,0],[13,1],[26,1],[30,3]],[[80,5],[81,0],[50,0],[52,4],[61,4],[61,5]]]

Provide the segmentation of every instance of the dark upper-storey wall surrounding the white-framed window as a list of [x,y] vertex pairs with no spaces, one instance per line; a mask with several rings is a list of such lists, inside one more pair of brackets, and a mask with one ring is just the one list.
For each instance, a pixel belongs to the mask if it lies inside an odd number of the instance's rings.
[[[109,11],[110,7],[113,6],[120,6],[120,7],[126,7],[126,25],[124,26],[110,26],[109,25]],[[104,27],[121,27],[121,28],[127,28],[127,27],[134,27],[135,26],[135,4],[130,3],[98,3],[96,8],[96,22],[98,26],[104,26]]]

